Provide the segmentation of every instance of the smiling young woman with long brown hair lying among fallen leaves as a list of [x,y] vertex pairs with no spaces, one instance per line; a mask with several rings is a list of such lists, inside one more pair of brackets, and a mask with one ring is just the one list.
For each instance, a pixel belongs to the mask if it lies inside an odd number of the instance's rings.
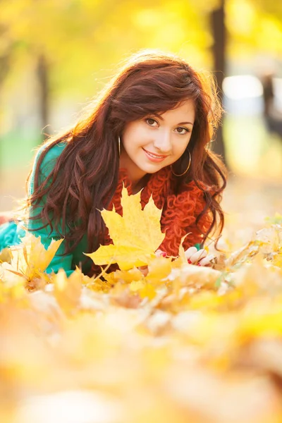
[[[111,80],[92,112],[39,148],[29,178],[28,231],[64,238],[47,272],[97,269],[83,252],[111,243],[99,210],[121,209],[123,184],[152,195],[166,233],[160,250],[178,255],[185,238],[188,261],[207,264],[203,247],[223,228],[225,168],[209,150],[221,118],[212,78],[173,55],[142,52]],[[140,228],[142,231],[142,228]],[[20,243],[16,223],[0,227],[0,249]]]

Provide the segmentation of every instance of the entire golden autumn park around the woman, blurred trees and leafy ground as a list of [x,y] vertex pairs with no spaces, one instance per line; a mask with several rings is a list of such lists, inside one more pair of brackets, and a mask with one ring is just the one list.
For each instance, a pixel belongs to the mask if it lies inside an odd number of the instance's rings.
[[226,256],[109,281],[0,264],[0,422],[282,422],[281,1],[0,0],[0,212],[34,149],[147,48],[217,78]]

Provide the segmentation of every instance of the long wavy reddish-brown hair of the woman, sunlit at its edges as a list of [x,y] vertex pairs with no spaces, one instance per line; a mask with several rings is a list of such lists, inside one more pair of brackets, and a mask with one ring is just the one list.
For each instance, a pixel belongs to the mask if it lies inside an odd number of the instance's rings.
[[[87,233],[88,252],[97,248],[97,238],[104,231],[99,213],[107,207],[118,183],[118,136],[125,124],[149,114],[177,107],[181,102],[195,102],[195,124],[189,142],[191,166],[185,176],[204,191],[211,225],[204,239],[215,228],[223,228],[221,192],[226,186],[224,166],[209,143],[221,118],[221,105],[213,78],[197,73],[186,61],[169,54],[145,51],[131,57],[104,89],[91,114],[59,137],[47,142],[35,168],[34,192],[27,206],[44,206],[30,219],[41,219],[65,238],[65,253],[71,252]],[[39,185],[39,168],[49,149],[65,142],[51,173]],[[185,157],[185,153],[183,154]],[[175,171],[181,168],[181,158]],[[209,187],[204,190],[204,185]],[[211,189],[212,188],[212,189]],[[196,221],[196,223],[197,223]]]

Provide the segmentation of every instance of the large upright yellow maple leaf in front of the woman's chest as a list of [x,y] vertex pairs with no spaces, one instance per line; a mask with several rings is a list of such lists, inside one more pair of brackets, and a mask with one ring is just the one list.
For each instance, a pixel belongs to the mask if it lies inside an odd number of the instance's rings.
[[115,210],[101,212],[114,245],[101,245],[97,251],[87,255],[95,264],[118,263],[122,270],[145,266],[154,258],[154,252],[165,237],[161,233],[161,209],[155,206],[151,197],[142,210],[140,192],[128,195],[124,187],[121,205],[123,216]]

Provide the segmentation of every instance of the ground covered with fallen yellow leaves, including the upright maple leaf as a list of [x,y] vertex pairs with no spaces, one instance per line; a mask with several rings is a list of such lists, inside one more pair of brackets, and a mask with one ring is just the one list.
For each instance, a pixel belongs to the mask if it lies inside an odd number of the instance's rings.
[[282,422],[279,192],[231,183],[212,267],[156,257],[160,212],[126,192],[90,255],[121,270],[47,275],[61,241],[33,235],[2,252],[0,422]]

